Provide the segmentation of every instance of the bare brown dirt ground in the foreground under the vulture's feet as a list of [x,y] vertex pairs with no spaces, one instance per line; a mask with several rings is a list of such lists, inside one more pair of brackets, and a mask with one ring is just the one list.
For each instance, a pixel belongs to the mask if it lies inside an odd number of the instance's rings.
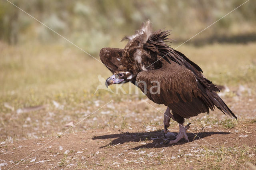
[[256,163],[256,123],[192,132],[188,132],[191,142],[174,145],[165,144],[160,130],[113,128],[4,143],[0,159],[8,163],[1,168],[244,169],[250,168],[246,162]]

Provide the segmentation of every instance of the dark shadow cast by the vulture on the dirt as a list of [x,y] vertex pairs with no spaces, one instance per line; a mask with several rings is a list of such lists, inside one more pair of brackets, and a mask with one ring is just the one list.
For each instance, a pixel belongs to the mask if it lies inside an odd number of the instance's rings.
[[[173,132],[175,135],[177,135],[177,132]],[[188,140],[194,141],[198,140],[200,138],[205,138],[207,136],[211,136],[214,134],[230,134],[230,132],[199,132],[197,133],[197,136],[193,133],[187,132]],[[198,137],[199,136],[199,137]],[[112,138],[115,138],[112,140]],[[92,140],[97,139],[108,139],[110,142],[106,144],[105,146],[101,146],[100,148],[104,148],[107,146],[114,146],[116,144],[124,144],[126,142],[146,142],[147,140],[153,140],[151,143],[142,144],[141,146],[137,146],[132,149],[139,149],[139,148],[162,148],[162,147],[168,147],[172,145],[180,145],[187,143],[187,141],[183,138],[176,144],[168,144],[168,139],[164,139],[163,136],[163,130],[153,131],[153,132],[121,132],[118,134],[107,134],[102,136],[94,136]],[[170,138],[170,140],[174,140],[175,137],[173,136]],[[167,144],[166,144],[167,142]]]

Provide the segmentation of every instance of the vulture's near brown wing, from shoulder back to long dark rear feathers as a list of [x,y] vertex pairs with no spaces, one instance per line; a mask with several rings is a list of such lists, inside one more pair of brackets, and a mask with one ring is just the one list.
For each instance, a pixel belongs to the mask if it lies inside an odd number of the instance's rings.
[[[214,111],[215,106],[224,114],[236,118],[215,91],[204,88],[200,82],[196,81],[191,70],[174,61],[171,63],[164,59],[161,61],[162,68],[142,71],[136,77],[137,82],[146,83],[146,92],[144,92],[144,84],[138,84],[138,87],[150,100],[170,107],[174,113],[184,118],[190,118],[199,113],[209,113],[209,109]],[[150,91],[153,86],[156,86],[152,81],[160,82],[160,93],[155,94],[155,91]]]

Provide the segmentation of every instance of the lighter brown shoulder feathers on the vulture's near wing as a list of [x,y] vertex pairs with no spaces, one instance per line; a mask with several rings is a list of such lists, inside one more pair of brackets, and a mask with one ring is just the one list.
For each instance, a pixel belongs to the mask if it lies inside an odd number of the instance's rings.
[[[149,71],[141,71],[136,77],[136,81],[143,81],[147,85],[146,95],[155,103],[168,105],[177,103],[180,100],[184,102],[192,102],[193,98],[198,97],[199,89],[196,84],[196,79],[192,71],[181,67],[172,61],[170,65],[162,60],[162,68]],[[158,81],[160,85],[160,93],[152,94],[150,89],[156,86]],[[138,87],[144,91],[144,84],[139,83]],[[152,91],[156,93],[156,91]]]

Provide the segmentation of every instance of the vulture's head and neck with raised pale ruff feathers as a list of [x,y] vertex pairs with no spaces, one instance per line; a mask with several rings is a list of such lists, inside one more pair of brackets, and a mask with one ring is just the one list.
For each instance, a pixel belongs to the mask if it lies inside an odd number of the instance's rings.
[[122,41],[127,40],[128,42],[121,57],[117,58],[119,65],[116,71],[106,79],[106,87],[112,84],[127,83],[135,80],[139,72],[155,69],[156,65],[151,64],[157,61],[157,53],[145,47],[151,40],[152,34],[152,26],[148,20],[142,24],[140,30],[135,31],[134,35],[125,36],[122,39]]

